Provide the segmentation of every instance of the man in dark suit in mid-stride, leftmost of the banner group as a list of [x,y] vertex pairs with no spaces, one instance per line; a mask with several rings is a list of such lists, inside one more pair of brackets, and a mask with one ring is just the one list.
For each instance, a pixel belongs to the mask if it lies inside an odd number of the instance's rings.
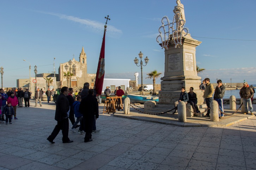
[[56,100],[56,111],[55,111],[55,120],[57,121],[57,125],[55,126],[51,135],[47,138],[50,143],[55,143],[53,140],[58,135],[60,130],[62,130],[62,142],[63,143],[71,143],[73,140],[68,138],[68,110],[69,110],[69,102],[67,99],[67,95],[69,93],[68,87],[62,87],[61,93],[57,97]]

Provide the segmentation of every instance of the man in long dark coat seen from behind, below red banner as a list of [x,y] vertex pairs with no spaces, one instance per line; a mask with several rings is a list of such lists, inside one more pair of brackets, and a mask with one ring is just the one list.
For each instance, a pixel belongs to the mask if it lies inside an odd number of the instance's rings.
[[93,89],[88,91],[88,96],[82,98],[79,111],[84,117],[84,142],[92,141],[92,128],[94,119],[99,118],[98,100],[93,96]]

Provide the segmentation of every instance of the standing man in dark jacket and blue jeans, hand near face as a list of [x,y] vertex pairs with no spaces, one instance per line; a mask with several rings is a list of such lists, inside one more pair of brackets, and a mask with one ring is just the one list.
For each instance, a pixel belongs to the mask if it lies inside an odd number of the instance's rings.
[[219,112],[219,118],[222,119],[222,118],[224,118],[223,97],[225,94],[225,86],[222,84],[221,80],[217,80],[217,84],[218,85],[215,88],[213,99],[216,100],[219,104],[219,109],[221,111],[221,113]]

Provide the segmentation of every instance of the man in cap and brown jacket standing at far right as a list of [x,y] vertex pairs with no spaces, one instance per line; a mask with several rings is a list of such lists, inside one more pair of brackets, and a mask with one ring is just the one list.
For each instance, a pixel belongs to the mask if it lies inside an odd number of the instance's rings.
[[245,109],[244,114],[249,114],[248,108],[247,108],[247,104],[248,104],[251,115],[254,115],[253,107],[251,104],[251,98],[252,98],[252,96],[254,96],[254,92],[253,92],[252,88],[248,85],[247,82],[243,83],[243,87],[242,87],[242,89],[240,89],[239,94],[240,94],[241,99],[243,99],[243,105],[244,105],[244,109]]

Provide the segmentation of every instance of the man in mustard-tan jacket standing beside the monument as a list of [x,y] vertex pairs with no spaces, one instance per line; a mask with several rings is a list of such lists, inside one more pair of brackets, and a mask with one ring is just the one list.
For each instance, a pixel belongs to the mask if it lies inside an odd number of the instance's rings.
[[210,117],[210,103],[212,102],[212,95],[214,93],[213,85],[210,83],[209,78],[205,78],[205,93],[203,93],[203,97],[205,98],[205,102],[207,105],[207,113],[203,117]]

